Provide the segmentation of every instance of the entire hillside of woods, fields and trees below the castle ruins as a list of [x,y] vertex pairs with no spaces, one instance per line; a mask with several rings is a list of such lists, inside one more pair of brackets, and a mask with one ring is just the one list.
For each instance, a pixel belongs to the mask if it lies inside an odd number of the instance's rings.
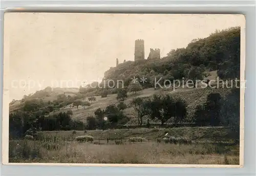
[[[78,89],[47,87],[24,96],[21,101],[13,101],[9,114],[10,136],[21,137],[31,130],[101,129],[103,117],[108,117],[108,125],[114,128],[141,127],[145,116],[151,117],[150,123],[155,123],[157,118],[156,123],[161,121],[161,125],[173,119],[178,119],[173,120],[174,124],[229,125],[239,136],[239,89],[194,87],[173,91],[153,86],[153,78],[194,81],[204,79],[210,71],[221,79],[240,78],[240,27],[194,39],[186,48],[172,50],[160,60],[127,61],[105,72],[106,79],[124,80],[124,89],[80,87],[78,92]],[[135,84],[131,82],[133,77],[145,77],[147,81]],[[163,108],[165,104],[171,105],[170,108]],[[162,109],[169,112],[162,113]]]

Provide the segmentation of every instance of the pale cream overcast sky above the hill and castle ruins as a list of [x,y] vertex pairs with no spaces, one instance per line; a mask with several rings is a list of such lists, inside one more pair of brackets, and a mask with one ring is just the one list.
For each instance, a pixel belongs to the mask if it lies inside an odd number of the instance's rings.
[[243,23],[242,15],[5,14],[10,100],[67,81],[79,87],[101,80],[116,58],[134,60],[136,39],[144,39],[145,58],[150,48],[163,57],[192,39]]

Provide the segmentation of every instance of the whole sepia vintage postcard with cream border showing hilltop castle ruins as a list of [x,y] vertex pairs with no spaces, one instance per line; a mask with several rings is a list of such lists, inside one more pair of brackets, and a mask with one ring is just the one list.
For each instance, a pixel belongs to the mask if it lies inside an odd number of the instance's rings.
[[9,12],[4,164],[242,167],[245,16]]

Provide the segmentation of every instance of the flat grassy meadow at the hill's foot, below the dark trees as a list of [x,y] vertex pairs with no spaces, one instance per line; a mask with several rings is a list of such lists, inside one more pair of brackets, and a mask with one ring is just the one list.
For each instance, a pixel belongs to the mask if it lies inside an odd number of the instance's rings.
[[[38,139],[10,140],[9,162],[237,165],[239,145],[232,144],[227,131],[223,127],[44,131]],[[193,143],[158,143],[165,133],[187,138],[189,134]],[[93,136],[94,141],[75,141],[81,135]],[[131,137],[145,140],[130,142]]]

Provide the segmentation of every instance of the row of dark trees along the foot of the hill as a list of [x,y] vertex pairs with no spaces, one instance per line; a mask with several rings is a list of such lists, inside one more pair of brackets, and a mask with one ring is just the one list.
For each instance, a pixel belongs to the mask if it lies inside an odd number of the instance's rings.
[[71,110],[49,115],[52,111],[51,106],[39,108],[42,102],[32,101],[25,102],[23,110],[10,113],[9,130],[10,136],[20,138],[26,135],[27,131],[120,128],[131,120],[125,115],[124,110],[132,108],[137,113],[138,127],[145,124],[145,121],[148,123],[154,120],[161,122],[161,125],[167,121],[172,124],[194,122],[197,126],[230,126],[233,134],[238,137],[239,100],[238,88],[232,89],[226,97],[211,93],[207,96],[206,102],[196,107],[194,118],[190,120],[186,118],[186,101],[172,94],[154,95],[151,98],[137,97],[128,104],[120,100],[117,105],[110,104],[106,108],[98,108],[94,116],[87,117],[86,121],[72,119]]

